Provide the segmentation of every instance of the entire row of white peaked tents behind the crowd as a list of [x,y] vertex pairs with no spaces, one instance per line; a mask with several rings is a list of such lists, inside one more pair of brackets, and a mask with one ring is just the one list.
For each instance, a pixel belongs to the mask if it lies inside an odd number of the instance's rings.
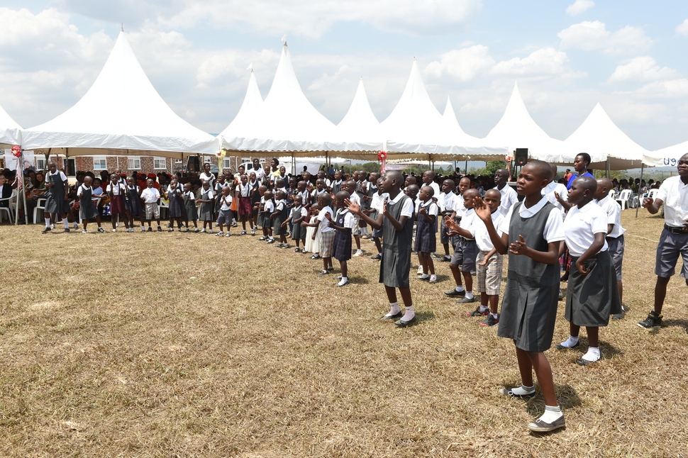
[[[571,164],[578,152],[591,155],[593,168],[628,169],[672,165],[688,142],[650,152],[623,133],[597,104],[566,140],[551,138],[528,114],[514,84],[504,116],[485,138],[465,133],[448,99],[441,114],[432,103],[414,60],[399,103],[379,122],[362,81],[343,120],[334,125],[306,99],[296,79],[287,43],[265,100],[250,74],[243,104],[217,137],[177,116],[150,83],[121,32],[99,77],[82,99],[60,116],[22,129],[0,107],[0,147],[50,148],[52,154],[215,155],[224,149],[240,155],[390,159],[503,160],[516,148],[531,159]],[[672,161],[674,161],[672,163]]]

